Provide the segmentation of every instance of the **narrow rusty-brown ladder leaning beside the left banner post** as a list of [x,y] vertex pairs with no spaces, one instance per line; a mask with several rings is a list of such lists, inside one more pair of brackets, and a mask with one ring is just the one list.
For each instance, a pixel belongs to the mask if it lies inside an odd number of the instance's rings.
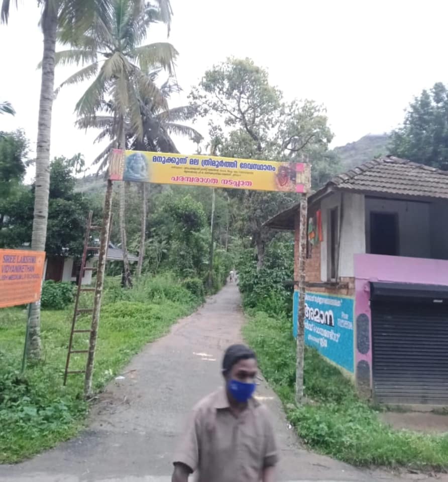
[[[81,267],[79,270],[79,276],[78,276],[78,286],[76,290],[76,297],[75,297],[75,306],[73,310],[73,318],[72,318],[72,323],[71,323],[71,329],[70,329],[70,339],[68,342],[68,351],[67,351],[67,360],[65,362],[65,371],[64,371],[64,385],[67,383],[67,376],[71,374],[77,374],[77,373],[85,373],[85,370],[69,370],[70,366],[70,357],[72,354],[82,354],[82,353],[88,353],[89,349],[84,349],[84,350],[74,350],[73,348],[73,338],[74,334],[76,333],[90,333],[92,332],[92,329],[77,329],[77,319],[79,315],[82,314],[92,314],[93,313],[93,307],[92,308],[78,308],[79,306],[79,298],[81,296],[81,293],[83,292],[96,292],[96,288],[84,288],[82,286],[82,279],[84,277],[84,274],[86,271],[96,271],[98,268],[96,266],[85,266],[87,262],[87,254],[91,251],[98,251],[99,247],[96,246],[89,246],[89,240],[90,240],[90,232],[91,231],[98,231],[101,230],[102,226],[97,226],[92,224],[92,216],[93,212],[90,211],[88,218],[87,218],[87,227],[85,230],[85,238],[84,238],[84,250],[82,252],[82,259],[81,259]],[[110,239],[110,230],[108,232],[107,236],[107,248],[109,246],[109,239]],[[107,257],[107,252],[106,252],[106,257]],[[90,340],[91,343],[91,340]]]

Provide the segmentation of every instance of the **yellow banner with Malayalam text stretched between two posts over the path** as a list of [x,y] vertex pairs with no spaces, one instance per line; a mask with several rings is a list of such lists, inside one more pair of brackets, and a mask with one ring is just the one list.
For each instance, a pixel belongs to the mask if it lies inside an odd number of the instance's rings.
[[310,187],[310,166],[304,163],[114,149],[110,158],[109,179],[305,193]]

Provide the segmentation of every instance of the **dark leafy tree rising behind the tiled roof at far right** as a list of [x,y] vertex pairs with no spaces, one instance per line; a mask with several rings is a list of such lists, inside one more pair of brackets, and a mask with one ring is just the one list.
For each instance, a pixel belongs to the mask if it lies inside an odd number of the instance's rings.
[[391,153],[431,167],[448,166],[448,90],[437,82],[409,104],[392,133]]

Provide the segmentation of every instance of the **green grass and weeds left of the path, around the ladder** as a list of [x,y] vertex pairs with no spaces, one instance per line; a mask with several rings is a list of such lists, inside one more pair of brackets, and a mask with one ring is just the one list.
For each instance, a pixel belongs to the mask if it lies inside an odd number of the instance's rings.
[[[82,300],[83,306],[89,300]],[[179,318],[202,302],[171,275],[143,277],[132,290],[107,280],[95,354],[94,389],[120,370],[148,342],[164,335]],[[73,307],[42,310],[42,361],[20,374],[26,311],[0,309],[0,463],[14,463],[74,436],[83,427],[88,404],[83,375],[62,385]],[[79,319],[79,328],[89,318]],[[77,334],[73,349],[88,346]],[[74,354],[70,368],[85,368],[85,354]]]

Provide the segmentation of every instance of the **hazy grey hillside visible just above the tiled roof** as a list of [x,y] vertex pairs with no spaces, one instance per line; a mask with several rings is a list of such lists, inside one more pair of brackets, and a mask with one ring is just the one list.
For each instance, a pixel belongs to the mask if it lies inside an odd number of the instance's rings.
[[356,142],[335,147],[333,151],[341,160],[341,167],[344,172],[374,157],[387,156],[389,154],[389,139],[388,134],[368,134]]

